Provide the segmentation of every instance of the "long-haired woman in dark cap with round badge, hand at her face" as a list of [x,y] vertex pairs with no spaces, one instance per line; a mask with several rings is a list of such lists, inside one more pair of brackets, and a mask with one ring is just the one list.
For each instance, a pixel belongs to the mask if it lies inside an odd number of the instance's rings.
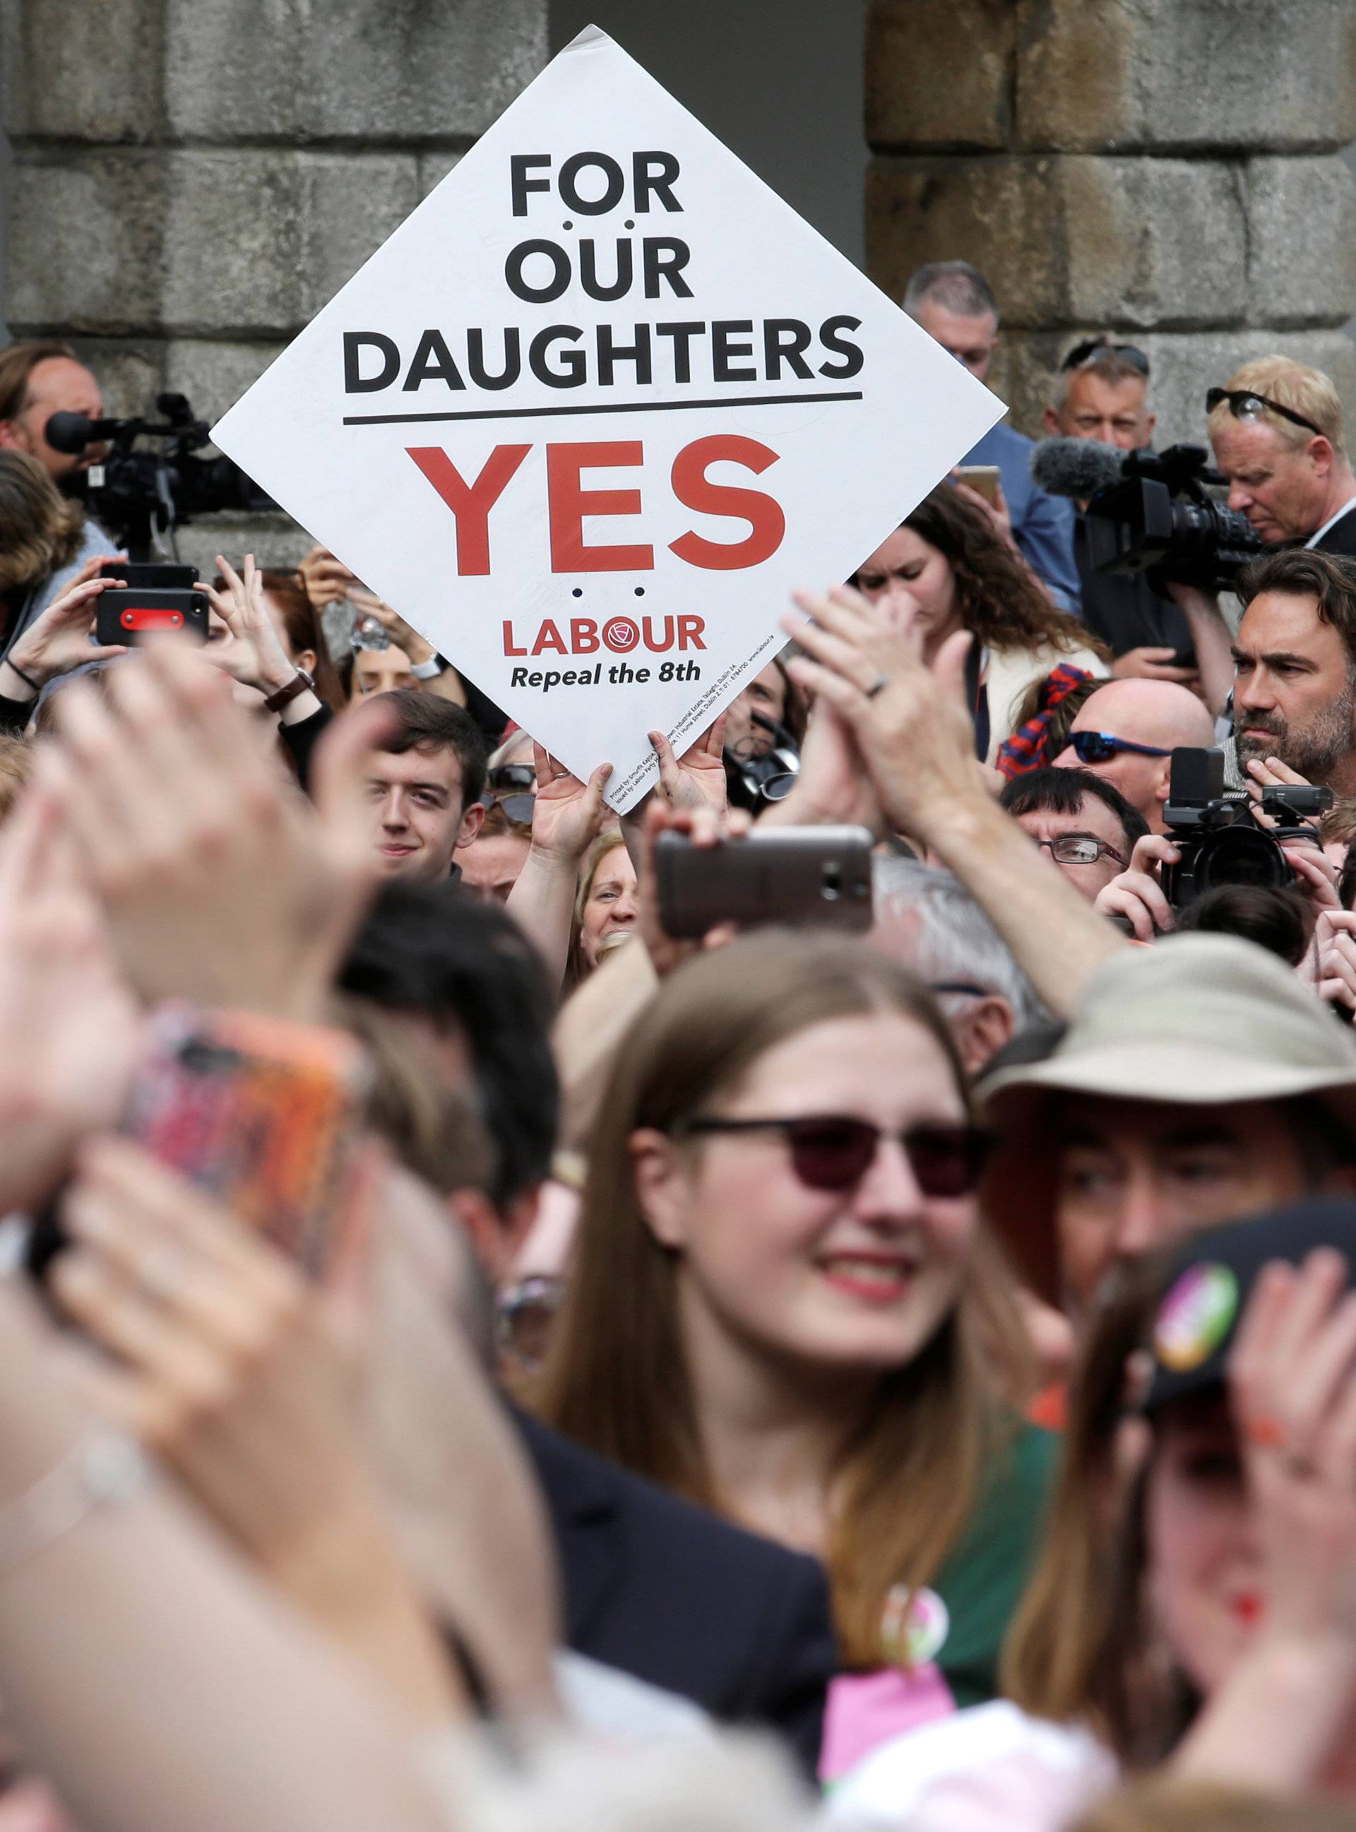
[[1356,1205],[1323,1198],[1125,1271],[1074,1376],[1012,1702],[947,1750],[878,1750],[847,1821],[968,1832],[1002,1799],[1057,1832],[1160,1768],[1356,1801],[1354,1270]]

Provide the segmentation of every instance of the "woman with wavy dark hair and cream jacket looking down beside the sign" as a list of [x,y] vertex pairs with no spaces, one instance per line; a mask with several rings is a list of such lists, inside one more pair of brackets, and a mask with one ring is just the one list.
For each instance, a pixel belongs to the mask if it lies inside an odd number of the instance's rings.
[[1061,663],[1107,674],[1110,650],[1076,617],[1055,610],[988,515],[938,484],[863,561],[852,584],[907,619],[924,661],[957,630],[975,638],[968,674],[977,751],[991,764],[1013,735],[1033,682]]

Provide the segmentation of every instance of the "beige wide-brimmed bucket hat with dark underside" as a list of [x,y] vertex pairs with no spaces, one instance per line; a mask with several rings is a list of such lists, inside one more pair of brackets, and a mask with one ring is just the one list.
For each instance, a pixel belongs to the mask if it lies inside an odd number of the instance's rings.
[[1312,1096],[1356,1143],[1356,1042],[1294,973],[1252,942],[1184,934],[1109,960],[1055,1052],[977,1086],[999,1134],[986,1213],[1022,1273],[1059,1292],[1061,1094],[1217,1105]]

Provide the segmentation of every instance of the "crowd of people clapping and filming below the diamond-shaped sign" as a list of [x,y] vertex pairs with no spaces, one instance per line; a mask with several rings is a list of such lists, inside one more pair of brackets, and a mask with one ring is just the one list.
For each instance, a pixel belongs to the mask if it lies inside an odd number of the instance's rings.
[[0,352],[0,1832],[1356,1827],[1356,476],[1213,381],[1246,564],[1083,339],[618,819],[321,548],[99,643]]

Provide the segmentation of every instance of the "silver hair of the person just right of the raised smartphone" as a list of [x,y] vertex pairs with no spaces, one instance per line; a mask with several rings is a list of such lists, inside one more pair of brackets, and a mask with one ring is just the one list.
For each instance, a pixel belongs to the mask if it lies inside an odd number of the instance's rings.
[[[1012,1006],[1017,1030],[1046,1015],[999,931],[951,872],[938,872],[918,859],[878,856],[872,861],[870,879],[874,931],[892,921],[902,923],[907,916],[914,918],[903,958],[896,947],[891,947],[891,953],[920,980],[929,986],[966,980],[982,986],[986,993],[997,993]],[[958,1013],[964,997],[964,993],[938,993],[938,1002],[944,1011]]]

